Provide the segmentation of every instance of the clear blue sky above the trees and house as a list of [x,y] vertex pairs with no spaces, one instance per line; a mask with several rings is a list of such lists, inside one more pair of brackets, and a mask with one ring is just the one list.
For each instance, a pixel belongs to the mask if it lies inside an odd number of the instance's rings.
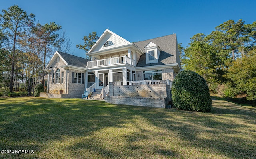
[[208,35],[227,20],[256,21],[256,0],[0,0],[0,14],[14,4],[41,24],[62,26],[79,57],[85,53],[76,44],[92,31],[110,29],[130,42],[176,33],[186,47],[193,35]]

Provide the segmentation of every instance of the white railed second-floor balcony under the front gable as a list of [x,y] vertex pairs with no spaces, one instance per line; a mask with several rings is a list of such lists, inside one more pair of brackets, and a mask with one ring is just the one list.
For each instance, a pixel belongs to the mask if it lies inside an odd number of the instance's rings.
[[88,61],[87,67],[102,67],[102,66],[109,66],[109,65],[118,65],[118,64],[129,64],[135,66],[135,60],[130,59],[127,56],[121,57],[112,57],[109,59],[102,59],[102,60],[95,60],[95,61]]

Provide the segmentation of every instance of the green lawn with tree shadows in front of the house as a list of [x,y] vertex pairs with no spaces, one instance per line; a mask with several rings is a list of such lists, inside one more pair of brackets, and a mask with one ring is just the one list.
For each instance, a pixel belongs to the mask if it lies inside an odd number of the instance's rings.
[[103,101],[0,98],[1,159],[255,159],[256,111],[213,100],[209,113]]

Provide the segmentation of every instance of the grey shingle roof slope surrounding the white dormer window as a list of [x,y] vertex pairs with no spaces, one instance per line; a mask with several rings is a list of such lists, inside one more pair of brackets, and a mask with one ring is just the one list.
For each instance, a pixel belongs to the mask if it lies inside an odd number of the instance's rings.
[[134,43],[137,45],[140,49],[145,50],[144,48],[149,43],[154,43],[160,47],[162,50],[159,55],[159,59],[157,63],[146,63],[146,54],[141,55],[140,59],[136,65],[136,67],[145,67],[145,66],[155,66],[155,65],[166,65],[166,64],[172,64],[172,63],[179,63],[177,60],[177,39],[176,34],[172,35],[166,35],[163,37],[157,37],[154,39],[148,39],[144,41],[139,41]]

